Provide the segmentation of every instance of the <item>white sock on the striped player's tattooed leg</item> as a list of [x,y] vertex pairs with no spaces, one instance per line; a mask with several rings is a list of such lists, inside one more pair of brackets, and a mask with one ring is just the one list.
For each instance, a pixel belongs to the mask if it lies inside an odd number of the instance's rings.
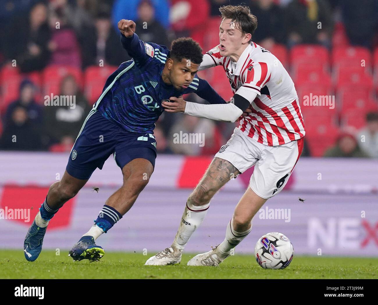
[[203,222],[209,206],[210,203],[201,206],[186,203],[183,217],[180,226],[178,227],[175,240],[172,243],[172,247],[180,251],[184,250],[186,243],[189,241],[194,231]]

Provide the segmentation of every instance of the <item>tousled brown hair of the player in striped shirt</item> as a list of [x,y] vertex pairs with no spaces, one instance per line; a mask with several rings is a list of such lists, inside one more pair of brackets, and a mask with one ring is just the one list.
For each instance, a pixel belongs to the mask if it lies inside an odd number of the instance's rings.
[[255,30],[257,29],[257,17],[251,14],[251,10],[248,6],[243,5],[227,5],[221,6],[219,8],[220,14],[222,15],[222,20],[231,19],[231,22],[235,22],[235,26],[243,34],[251,34],[252,36]]

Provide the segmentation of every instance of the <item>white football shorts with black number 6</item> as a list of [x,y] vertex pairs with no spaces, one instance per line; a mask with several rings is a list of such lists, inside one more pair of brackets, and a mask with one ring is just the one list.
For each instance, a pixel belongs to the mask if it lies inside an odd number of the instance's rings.
[[268,146],[246,136],[239,128],[215,154],[243,173],[255,166],[249,181],[251,189],[269,199],[286,185],[303,149],[303,138],[277,146]]

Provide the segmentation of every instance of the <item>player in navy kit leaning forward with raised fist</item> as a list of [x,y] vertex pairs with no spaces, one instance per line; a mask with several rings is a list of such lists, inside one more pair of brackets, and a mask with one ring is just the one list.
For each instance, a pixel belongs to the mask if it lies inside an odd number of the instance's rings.
[[161,102],[194,92],[210,103],[226,103],[196,74],[203,57],[197,42],[180,38],[174,40],[169,50],[139,40],[132,20],[120,20],[118,28],[121,44],[133,60],[123,62],[108,77],[101,96],[85,119],[62,180],[50,186],[26,234],[26,260],[37,259],[51,218],[113,154],[122,170],[123,184],[107,199],[95,224],[69,251],[74,260],[99,260],[105,252],[95,244],[96,238],[129,211],[153,173],[156,158],[153,129],[164,111]]

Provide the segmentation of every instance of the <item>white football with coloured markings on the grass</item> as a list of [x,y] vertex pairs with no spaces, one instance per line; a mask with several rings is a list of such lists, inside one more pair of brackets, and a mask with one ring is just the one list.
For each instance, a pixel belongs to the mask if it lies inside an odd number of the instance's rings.
[[264,269],[284,269],[293,260],[294,247],[285,235],[271,232],[256,243],[255,258]]

